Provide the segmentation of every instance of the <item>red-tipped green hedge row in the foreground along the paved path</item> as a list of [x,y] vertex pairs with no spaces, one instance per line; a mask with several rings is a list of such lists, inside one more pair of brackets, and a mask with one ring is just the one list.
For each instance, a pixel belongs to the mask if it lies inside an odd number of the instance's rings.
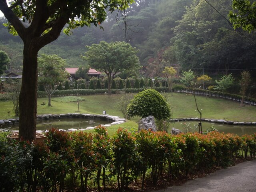
[[69,184],[70,190],[79,186],[86,192],[89,180],[101,191],[113,176],[120,192],[138,178],[143,189],[146,173],[156,185],[163,173],[168,182],[173,176],[226,167],[256,153],[256,134],[239,137],[215,131],[172,136],[120,128],[110,138],[106,128],[98,126],[94,134],[52,129],[46,138],[45,144],[0,138],[1,191],[62,191]]

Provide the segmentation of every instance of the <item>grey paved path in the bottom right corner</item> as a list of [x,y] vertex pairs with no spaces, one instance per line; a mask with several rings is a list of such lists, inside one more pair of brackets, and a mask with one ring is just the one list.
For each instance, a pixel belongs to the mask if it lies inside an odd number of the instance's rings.
[[256,192],[256,160],[221,169],[158,192]]

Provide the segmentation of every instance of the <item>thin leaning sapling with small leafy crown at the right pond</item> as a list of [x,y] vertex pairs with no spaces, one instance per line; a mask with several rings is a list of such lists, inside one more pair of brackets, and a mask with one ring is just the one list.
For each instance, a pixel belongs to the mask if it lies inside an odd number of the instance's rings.
[[196,85],[196,76],[194,74],[194,72],[192,72],[191,70],[189,71],[182,71],[182,76],[181,76],[181,81],[186,85],[186,86],[190,86],[192,88],[192,92],[194,95],[194,100],[196,103],[196,109],[200,114],[200,123],[198,125],[198,129],[199,129],[199,133],[202,133],[202,112],[198,109],[198,105],[196,102],[196,91],[195,91],[195,85]]

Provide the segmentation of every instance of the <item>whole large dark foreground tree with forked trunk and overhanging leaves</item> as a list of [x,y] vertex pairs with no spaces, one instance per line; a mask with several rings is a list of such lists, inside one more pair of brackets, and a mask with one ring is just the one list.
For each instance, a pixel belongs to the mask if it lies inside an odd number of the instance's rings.
[[[0,10],[9,21],[8,28],[18,34],[24,43],[22,88],[19,96],[19,138],[36,138],[36,106],[38,82],[38,51],[56,40],[62,28],[66,34],[78,26],[99,25],[107,12],[126,9],[133,0],[0,0]],[[29,24],[28,24],[29,23]],[[101,26],[100,26],[101,27]]]

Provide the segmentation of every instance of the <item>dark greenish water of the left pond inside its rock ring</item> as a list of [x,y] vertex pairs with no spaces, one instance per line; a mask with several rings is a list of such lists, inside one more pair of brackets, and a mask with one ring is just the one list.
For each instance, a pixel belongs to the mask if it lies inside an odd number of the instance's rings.
[[[112,123],[110,120],[104,120],[96,118],[94,120],[89,118],[60,118],[60,119],[49,119],[49,120],[38,120],[36,123],[36,130],[49,130],[52,128],[55,129],[64,129],[68,130],[70,128],[74,129],[85,129],[86,127],[94,127],[100,124]],[[8,124],[3,126],[0,129],[5,130],[18,130],[18,124]]]

